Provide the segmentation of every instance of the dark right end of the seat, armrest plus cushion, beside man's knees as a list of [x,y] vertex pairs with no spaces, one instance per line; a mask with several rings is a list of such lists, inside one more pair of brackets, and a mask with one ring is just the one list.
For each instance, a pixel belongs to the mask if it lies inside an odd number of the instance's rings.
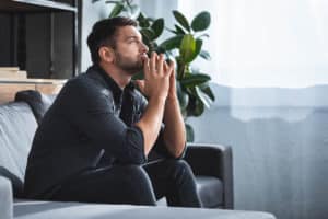
[[233,209],[233,164],[229,146],[188,143],[185,160],[191,166],[204,207]]

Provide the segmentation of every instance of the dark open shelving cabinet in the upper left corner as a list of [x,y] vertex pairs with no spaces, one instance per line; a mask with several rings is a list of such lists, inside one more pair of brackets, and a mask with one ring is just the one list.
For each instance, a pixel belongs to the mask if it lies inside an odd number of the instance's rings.
[[0,67],[28,78],[68,79],[79,72],[78,0],[1,0]]

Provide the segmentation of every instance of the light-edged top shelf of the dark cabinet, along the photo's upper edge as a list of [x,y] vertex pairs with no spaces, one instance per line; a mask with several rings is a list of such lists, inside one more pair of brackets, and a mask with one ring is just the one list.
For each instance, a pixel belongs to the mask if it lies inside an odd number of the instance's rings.
[[0,12],[78,12],[75,7],[50,0],[1,0]]

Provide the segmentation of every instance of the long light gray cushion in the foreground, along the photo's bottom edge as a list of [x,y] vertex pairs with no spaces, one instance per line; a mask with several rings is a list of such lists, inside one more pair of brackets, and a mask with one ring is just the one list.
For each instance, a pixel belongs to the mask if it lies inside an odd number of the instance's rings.
[[79,203],[19,201],[14,204],[15,219],[274,219],[259,211],[199,208],[101,205]]

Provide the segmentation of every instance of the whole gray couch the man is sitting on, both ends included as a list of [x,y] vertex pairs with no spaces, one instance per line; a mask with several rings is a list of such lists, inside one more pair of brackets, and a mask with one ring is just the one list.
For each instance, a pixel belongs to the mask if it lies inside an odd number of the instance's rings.
[[[37,124],[55,95],[23,91],[0,105],[0,219],[11,218],[274,218],[267,212],[149,207],[132,205],[60,203],[25,199],[27,154]],[[186,161],[197,180],[207,208],[233,208],[232,151],[220,145],[189,143]]]

